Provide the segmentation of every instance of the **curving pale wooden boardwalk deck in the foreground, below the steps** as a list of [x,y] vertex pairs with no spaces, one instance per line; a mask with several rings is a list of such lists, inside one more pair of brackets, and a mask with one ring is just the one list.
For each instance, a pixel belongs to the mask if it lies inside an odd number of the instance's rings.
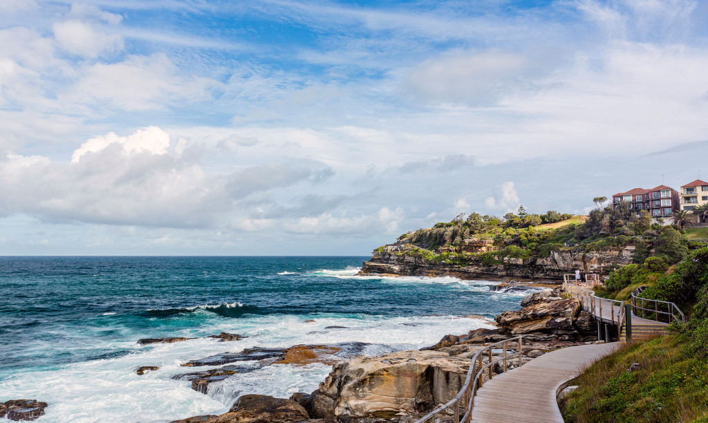
[[610,344],[578,345],[549,352],[484,383],[474,398],[472,422],[563,422],[556,389],[578,369],[617,348]]

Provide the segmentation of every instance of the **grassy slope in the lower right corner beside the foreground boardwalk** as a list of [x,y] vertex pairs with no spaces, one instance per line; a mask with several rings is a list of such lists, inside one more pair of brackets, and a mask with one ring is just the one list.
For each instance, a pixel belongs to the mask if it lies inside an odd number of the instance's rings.
[[[596,361],[561,404],[566,422],[708,421],[708,361],[675,335],[633,342]],[[633,363],[639,370],[629,371]]]

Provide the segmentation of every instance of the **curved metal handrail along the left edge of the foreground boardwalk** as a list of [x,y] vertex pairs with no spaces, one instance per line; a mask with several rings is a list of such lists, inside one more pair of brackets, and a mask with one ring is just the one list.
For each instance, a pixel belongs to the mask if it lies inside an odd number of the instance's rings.
[[[506,344],[508,344],[508,342],[517,342],[517,341],[518,341],[518,351],[515,352],[514,354],[507,354],[506,353],[506,351],[507,351]],[[495,349],[495,347],[498,347],[499,345],[502,346],[504,354],[501,358],[492,359],[492,349]],[[503,362],[503,372],[506,372],[507,371],[506,361],[508,359],[513,359],[515,357],[518,357],[519,366],[522,366],[523,365],[522,351],[523,351],[522,337],[520,337],[520,336],[510,338],[508,340],[496,342],[494,344],[487,345],[483,349],[480,349],[476,354],[474,354],[474,357],[472,357],[472,363],[469,365],[469,370],[467,371],[467,378],[464,379],[464,385],[462,386],[462,388],[460,388],[459,393],[457,393],[457,395],[455,395],[455,398],[452,398],[452,400],[446,402],[445,404],[441,405],[440,407],[436,408],[435,410],[429,412],[427,415],[416,420],[416,422],[414,422],[414,423],[435,423],[435,417],[437,415],[440,415],[442,412],[445,412],[445,410],[447,410],[450,407],[454,407],[453,411],[452,411],[453,422],[455,422],[455,423],[469,423],[470,419],[472,419],[472,407],[474,407],[474,395],[476,395],[477,389],[481,388],[481,386],[484,384],[484,381],[481,378],[484,371],[489,371],[489,379],[488,380],[491,381],[492,376],[493,376],[493,366],[497,363]],[[486,352],[489,355],[489,359],[486,364],[484,364],[482,361],[482,354],[484,354],[484,352]],[[474,373],[474,382],[472,382],[472,373]],[[478,382],[479,382],[479,387],[477,386]],[[470,383],[472,383],[472,384],[470,384]],[[466,407],[465,407],[465,404],[467,405]],[[462,417],[460,417],[460,415],[459,415],[459,413],[461,411],[464,411],[464,415],[462,415]]]

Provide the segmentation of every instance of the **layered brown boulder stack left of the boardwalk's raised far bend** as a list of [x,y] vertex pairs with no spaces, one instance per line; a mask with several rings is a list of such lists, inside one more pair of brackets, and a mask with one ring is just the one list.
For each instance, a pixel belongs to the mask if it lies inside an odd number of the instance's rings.
[[578,335],[573,326],[580,301],[577,299],[557,299],[542,301],[525,306],[519,311],[506,311],[496,316],[499,325],[511,335],[525,335],[538,332],[553,335]]

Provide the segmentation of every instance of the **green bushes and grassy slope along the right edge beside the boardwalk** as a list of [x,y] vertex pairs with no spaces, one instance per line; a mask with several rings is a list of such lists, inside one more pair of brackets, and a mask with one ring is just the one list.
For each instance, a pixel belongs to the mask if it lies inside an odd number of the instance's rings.
[[649,257],[616,270],[607,282],[608,289],[621,289],[618,297],[649,283],[642,296],[678,303],[690,319],[674,323],[671,335],[626,344],[590,366],[564,400],[565,421],[708,422],[708,248],[673,269]]

